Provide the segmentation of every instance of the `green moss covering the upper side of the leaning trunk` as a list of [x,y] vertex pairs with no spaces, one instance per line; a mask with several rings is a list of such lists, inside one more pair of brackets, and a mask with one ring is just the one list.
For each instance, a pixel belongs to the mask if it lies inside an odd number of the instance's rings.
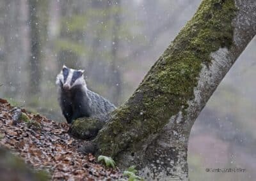
[[212,52],[232,45],[235,15],[234,0],[202,1],[132,97],[111,114],[111,122],[93,140],[100,154],[116,156],[125,148],[136,149],[138,141],[188,108],[202,64],[209,66]]

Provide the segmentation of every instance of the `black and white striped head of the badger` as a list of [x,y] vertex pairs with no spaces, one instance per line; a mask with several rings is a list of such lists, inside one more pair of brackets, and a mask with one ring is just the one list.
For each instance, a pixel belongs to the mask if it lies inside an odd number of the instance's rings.
[[57,75],[56,84],[66,90],[70,90],[77,85],[85,85],[84,87],[86,87],[83,73],[83,69],[71,69],[64,65],[61,72]]

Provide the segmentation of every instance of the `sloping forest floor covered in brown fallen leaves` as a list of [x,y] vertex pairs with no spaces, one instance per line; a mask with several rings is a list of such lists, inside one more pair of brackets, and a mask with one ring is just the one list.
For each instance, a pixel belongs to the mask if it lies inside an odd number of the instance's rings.
[[69,126],[28,113],[0,99],[0,147],[8,148],[32,168],[46,170],[52,180],[118,180],[122,173],[97,163],[92,155],[77,152],[86,144],[68,134]]

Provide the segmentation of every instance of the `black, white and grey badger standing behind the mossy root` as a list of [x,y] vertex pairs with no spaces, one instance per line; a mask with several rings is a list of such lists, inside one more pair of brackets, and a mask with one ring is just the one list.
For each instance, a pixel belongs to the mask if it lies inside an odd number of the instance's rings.
[[108,99],[87,88],[83,69],[71,69],[63,65],[56,77],[56,85],[61,111],[68,124],[79,117],[94,117],[116,108]]

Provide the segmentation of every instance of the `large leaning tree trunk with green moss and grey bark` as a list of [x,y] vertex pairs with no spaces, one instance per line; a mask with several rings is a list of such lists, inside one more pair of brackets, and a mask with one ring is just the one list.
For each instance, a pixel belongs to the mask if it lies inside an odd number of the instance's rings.
[[[136,164],[149,180],[188,180],[191,127],[255,36],[255,10],[255,0],[202,1],[131,98],[110,113],[84,151],[112,156],[121,168]],[[78,127],[76,121],[72,131]]]

